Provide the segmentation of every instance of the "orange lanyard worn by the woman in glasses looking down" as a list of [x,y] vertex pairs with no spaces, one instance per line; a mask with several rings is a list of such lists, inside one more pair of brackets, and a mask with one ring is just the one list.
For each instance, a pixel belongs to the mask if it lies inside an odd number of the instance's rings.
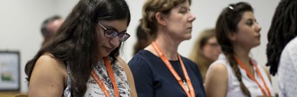
[[[110,77],[111,82],[113,83],[113,89],[115,90],[115,97],[119,97],[119,89],[117,89],[117,83],[115,82],[115,75],[113,75],[113,68],[111,68],[110,61],[108,57],[103,57],[104,64],[107,68],[108,76]],[[106,87],[104,86],[102,80],[100,80],[99,76],[96,75],[95,70],[92,70],[91,76],[93,79],[96,81],[97,84],[99,84],[99,87],[102,89],[103,93],[107,96],[110,97],[110,94]]]

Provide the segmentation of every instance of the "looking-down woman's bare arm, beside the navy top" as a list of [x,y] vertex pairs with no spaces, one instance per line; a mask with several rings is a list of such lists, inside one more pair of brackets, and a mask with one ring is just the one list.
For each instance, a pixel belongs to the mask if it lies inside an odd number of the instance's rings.
[[126,64],[126,62],[119,57],[117,57],[117,61],[119,61],[119,64],[121,64],[122,67],[124,68],[128,82],[131,85],[131,97],[137,97],[137,92],[136,92],[136,88],[135,88],[135,84],[134,84],[134,78],[133,78],[133,75],[131,73],[131,70],[130,70],[128,64]]

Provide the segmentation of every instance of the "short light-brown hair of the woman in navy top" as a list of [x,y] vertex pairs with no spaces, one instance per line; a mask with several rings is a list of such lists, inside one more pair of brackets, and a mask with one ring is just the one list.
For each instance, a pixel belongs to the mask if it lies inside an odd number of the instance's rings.
[[191,5],[191,0],[146,0],[143,5],[143,18],[141,19],[141,27],[145,33],[155,39],[157,37],[157,20],[155,17],[157,12],[168,15],[172,8],[185,1],[189,1],[189,5]]

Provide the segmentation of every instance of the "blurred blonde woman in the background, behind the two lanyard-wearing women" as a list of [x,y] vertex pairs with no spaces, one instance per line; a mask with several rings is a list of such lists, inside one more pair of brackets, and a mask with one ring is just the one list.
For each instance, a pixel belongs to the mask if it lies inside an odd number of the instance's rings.
[[221,47],[217,43],[217,38],[215,38],[215,29],[205,29],[199,34],[189,59],[194,61],[200,69],[203,81],[208,67],[217,60],[220,53]]

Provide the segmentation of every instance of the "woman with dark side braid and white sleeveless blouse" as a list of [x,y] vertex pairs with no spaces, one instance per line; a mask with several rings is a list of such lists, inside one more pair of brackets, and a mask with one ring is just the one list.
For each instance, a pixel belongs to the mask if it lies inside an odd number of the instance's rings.
[[207,96],[275,96],[268,70],[249,57],[250,50],[261,43],[261,27],[252,6],[230,4],[219,15],[215,30],[223,54],[206,73]]

